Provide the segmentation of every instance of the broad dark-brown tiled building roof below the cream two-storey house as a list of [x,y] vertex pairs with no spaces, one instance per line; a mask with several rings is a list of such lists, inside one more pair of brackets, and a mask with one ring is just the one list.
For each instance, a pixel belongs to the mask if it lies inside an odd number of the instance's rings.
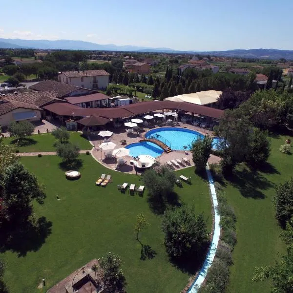
[[96,91],[92,89],[83,88],[72,84],[62,84],[50,80],[43,81],[38,84],[33,84],[30,86],[30,88],[40,92],[53,91],[56,93],[56,96],[59,99],[96,93]]

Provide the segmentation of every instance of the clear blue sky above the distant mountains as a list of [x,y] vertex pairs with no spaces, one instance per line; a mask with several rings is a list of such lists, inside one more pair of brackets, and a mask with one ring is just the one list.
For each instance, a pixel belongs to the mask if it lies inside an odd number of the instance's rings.
[[293,50],[292,0],[16,0],[0,37],[176,50]]

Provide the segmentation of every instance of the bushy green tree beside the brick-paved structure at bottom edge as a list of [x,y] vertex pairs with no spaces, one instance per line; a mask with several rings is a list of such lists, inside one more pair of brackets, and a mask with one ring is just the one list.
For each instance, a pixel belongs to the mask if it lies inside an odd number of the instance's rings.
[[100,260],[100,266],[104,270],[103,282],[109,293],[124,293],[126,279],[121,270],[121,259],[119,256],[108,252]]

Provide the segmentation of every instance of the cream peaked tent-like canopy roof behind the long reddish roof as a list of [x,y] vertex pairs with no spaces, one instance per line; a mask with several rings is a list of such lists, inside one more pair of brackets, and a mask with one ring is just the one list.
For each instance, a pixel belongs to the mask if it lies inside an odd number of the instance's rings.
[[173,102],[188,102],[197,105],[207,105],[210,103],[217,102],[217,99],[222,94],[221,91],[217,90],[205,90],[197,93],[183,94],[175,97],[169,97],[164,99],[164,101]]

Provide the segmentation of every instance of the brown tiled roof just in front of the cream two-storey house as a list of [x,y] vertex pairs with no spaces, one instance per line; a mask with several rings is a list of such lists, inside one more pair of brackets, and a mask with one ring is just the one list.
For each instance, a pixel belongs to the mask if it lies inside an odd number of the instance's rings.
[[[79,86],[75,86],[72,84],[62,84],[56,81],[43,81],[38,84],[31,85],[30,88],[37,90],[37,91],[54,91],[58,98],[63,98],[64,96],[82,88]],[[95,90],[87,89],[88,91],[92,91],[93,93],[96,92]]]

